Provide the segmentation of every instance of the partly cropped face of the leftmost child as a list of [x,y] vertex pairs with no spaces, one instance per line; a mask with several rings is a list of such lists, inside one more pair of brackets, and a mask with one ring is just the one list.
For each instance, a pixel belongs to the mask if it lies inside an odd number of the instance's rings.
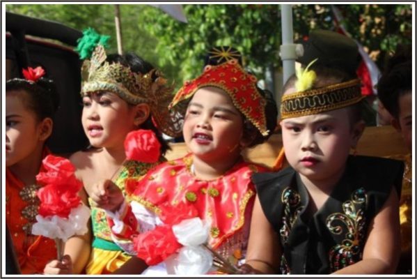
[[40,122],[22,102],[22,92],[6,93],[6,167],[28,158],[40,140]]

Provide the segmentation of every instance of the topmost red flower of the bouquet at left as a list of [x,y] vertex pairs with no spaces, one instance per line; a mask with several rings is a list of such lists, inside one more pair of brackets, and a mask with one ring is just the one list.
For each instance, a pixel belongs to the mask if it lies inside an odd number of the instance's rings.
[[75,167],[70,160],[58,156],[48,155],[42,160],[42,171],[36,176],[41,185],[69,184],[81,189],[82,183],[75,175]]

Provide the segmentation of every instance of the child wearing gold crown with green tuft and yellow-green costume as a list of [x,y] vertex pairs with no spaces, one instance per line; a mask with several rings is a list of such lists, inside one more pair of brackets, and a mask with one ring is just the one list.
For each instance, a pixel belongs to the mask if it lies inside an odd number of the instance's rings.
[[[95,183],[104,179],[111,179],[124,192],[126,179],[139,179],[150,167],[164,161],[168,144],[161,131],[177,133],[167,108],[172,89],[165,85],[164,78],[136,54],[107,56],[107,39],[88,29],[78,46],[81,59],[86,59],[81,68],[81,121],[91,146],[74,153],[70,160],[89,197]],[[126,160],[125,137],[138,129],[156,134],[162,155],[155,162],[149,158]],[[86,239],[73,237],[65,244],[68,255],[63,262],[49,263],[45,273],[105,274],[129,259],[111,240],[104,211],[91,199],[88,202],[92,211],[92,248]]]

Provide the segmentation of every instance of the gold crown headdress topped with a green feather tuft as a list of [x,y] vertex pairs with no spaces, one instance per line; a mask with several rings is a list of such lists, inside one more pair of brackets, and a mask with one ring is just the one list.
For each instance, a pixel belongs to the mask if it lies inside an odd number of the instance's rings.
[[155,69],[145,74],[134,73],[121,63],[109,63],[104,50],[109,37],[100,36],[93,29],[83,33],[77,51],[81,59],[91,53],[91,59],[84,60],[81,66],[81,96],[88,92],[111,91],[132,105],[148,103],[157,128],[172,137],[180,135],[181,119],[168,110],[173,86],[166,86],[162,73]]

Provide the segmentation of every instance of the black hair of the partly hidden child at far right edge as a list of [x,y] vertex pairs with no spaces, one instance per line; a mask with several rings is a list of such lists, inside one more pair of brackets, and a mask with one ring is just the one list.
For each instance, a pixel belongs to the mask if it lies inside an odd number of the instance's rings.
[[379,100],[395,119],[400,114],[400,97],[411,92],[411,83],[411,45],[399,45],[377,84]]

